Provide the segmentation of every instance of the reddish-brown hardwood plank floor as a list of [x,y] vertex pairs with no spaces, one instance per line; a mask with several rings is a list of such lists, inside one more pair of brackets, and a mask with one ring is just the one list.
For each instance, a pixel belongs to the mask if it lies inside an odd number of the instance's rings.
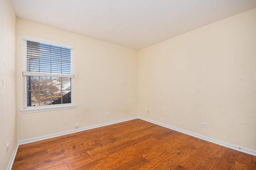
[[20,145],[12,170],[256,170],[256,156],[140,119]]

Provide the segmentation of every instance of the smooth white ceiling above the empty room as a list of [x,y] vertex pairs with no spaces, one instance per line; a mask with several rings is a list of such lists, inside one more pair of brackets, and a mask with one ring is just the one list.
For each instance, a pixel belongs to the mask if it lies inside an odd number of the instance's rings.
[[256,8],[256,0],[11,0],[18,18],[142,49]]

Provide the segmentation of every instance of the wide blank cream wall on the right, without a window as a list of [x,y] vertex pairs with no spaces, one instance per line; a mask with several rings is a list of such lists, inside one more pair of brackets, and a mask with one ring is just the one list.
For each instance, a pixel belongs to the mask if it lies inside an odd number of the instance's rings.
[[138,65],[139,116],[256,149],[256,9],[142,49]]

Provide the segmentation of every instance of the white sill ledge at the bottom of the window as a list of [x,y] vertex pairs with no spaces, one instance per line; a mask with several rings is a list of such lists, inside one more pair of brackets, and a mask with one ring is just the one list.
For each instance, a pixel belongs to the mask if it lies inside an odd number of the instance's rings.
[[75,109],[76,105],[73,104],[62,104],[61,106],[30,106],[20,110],[21,113],[35,113],[41,111],[52,111],[52,110],[63,110],[63,109]]

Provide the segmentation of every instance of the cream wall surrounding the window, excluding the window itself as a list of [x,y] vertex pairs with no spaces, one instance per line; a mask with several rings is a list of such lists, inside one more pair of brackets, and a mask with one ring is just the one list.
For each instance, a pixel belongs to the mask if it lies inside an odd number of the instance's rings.
[[[76,109],[26,113],[23,109],[22,34],[75,46]],[[28,20],[16,21],[18,140],[41,137],[138,115],[138,51]],[[105,116],[110,112],[110,116]]]

